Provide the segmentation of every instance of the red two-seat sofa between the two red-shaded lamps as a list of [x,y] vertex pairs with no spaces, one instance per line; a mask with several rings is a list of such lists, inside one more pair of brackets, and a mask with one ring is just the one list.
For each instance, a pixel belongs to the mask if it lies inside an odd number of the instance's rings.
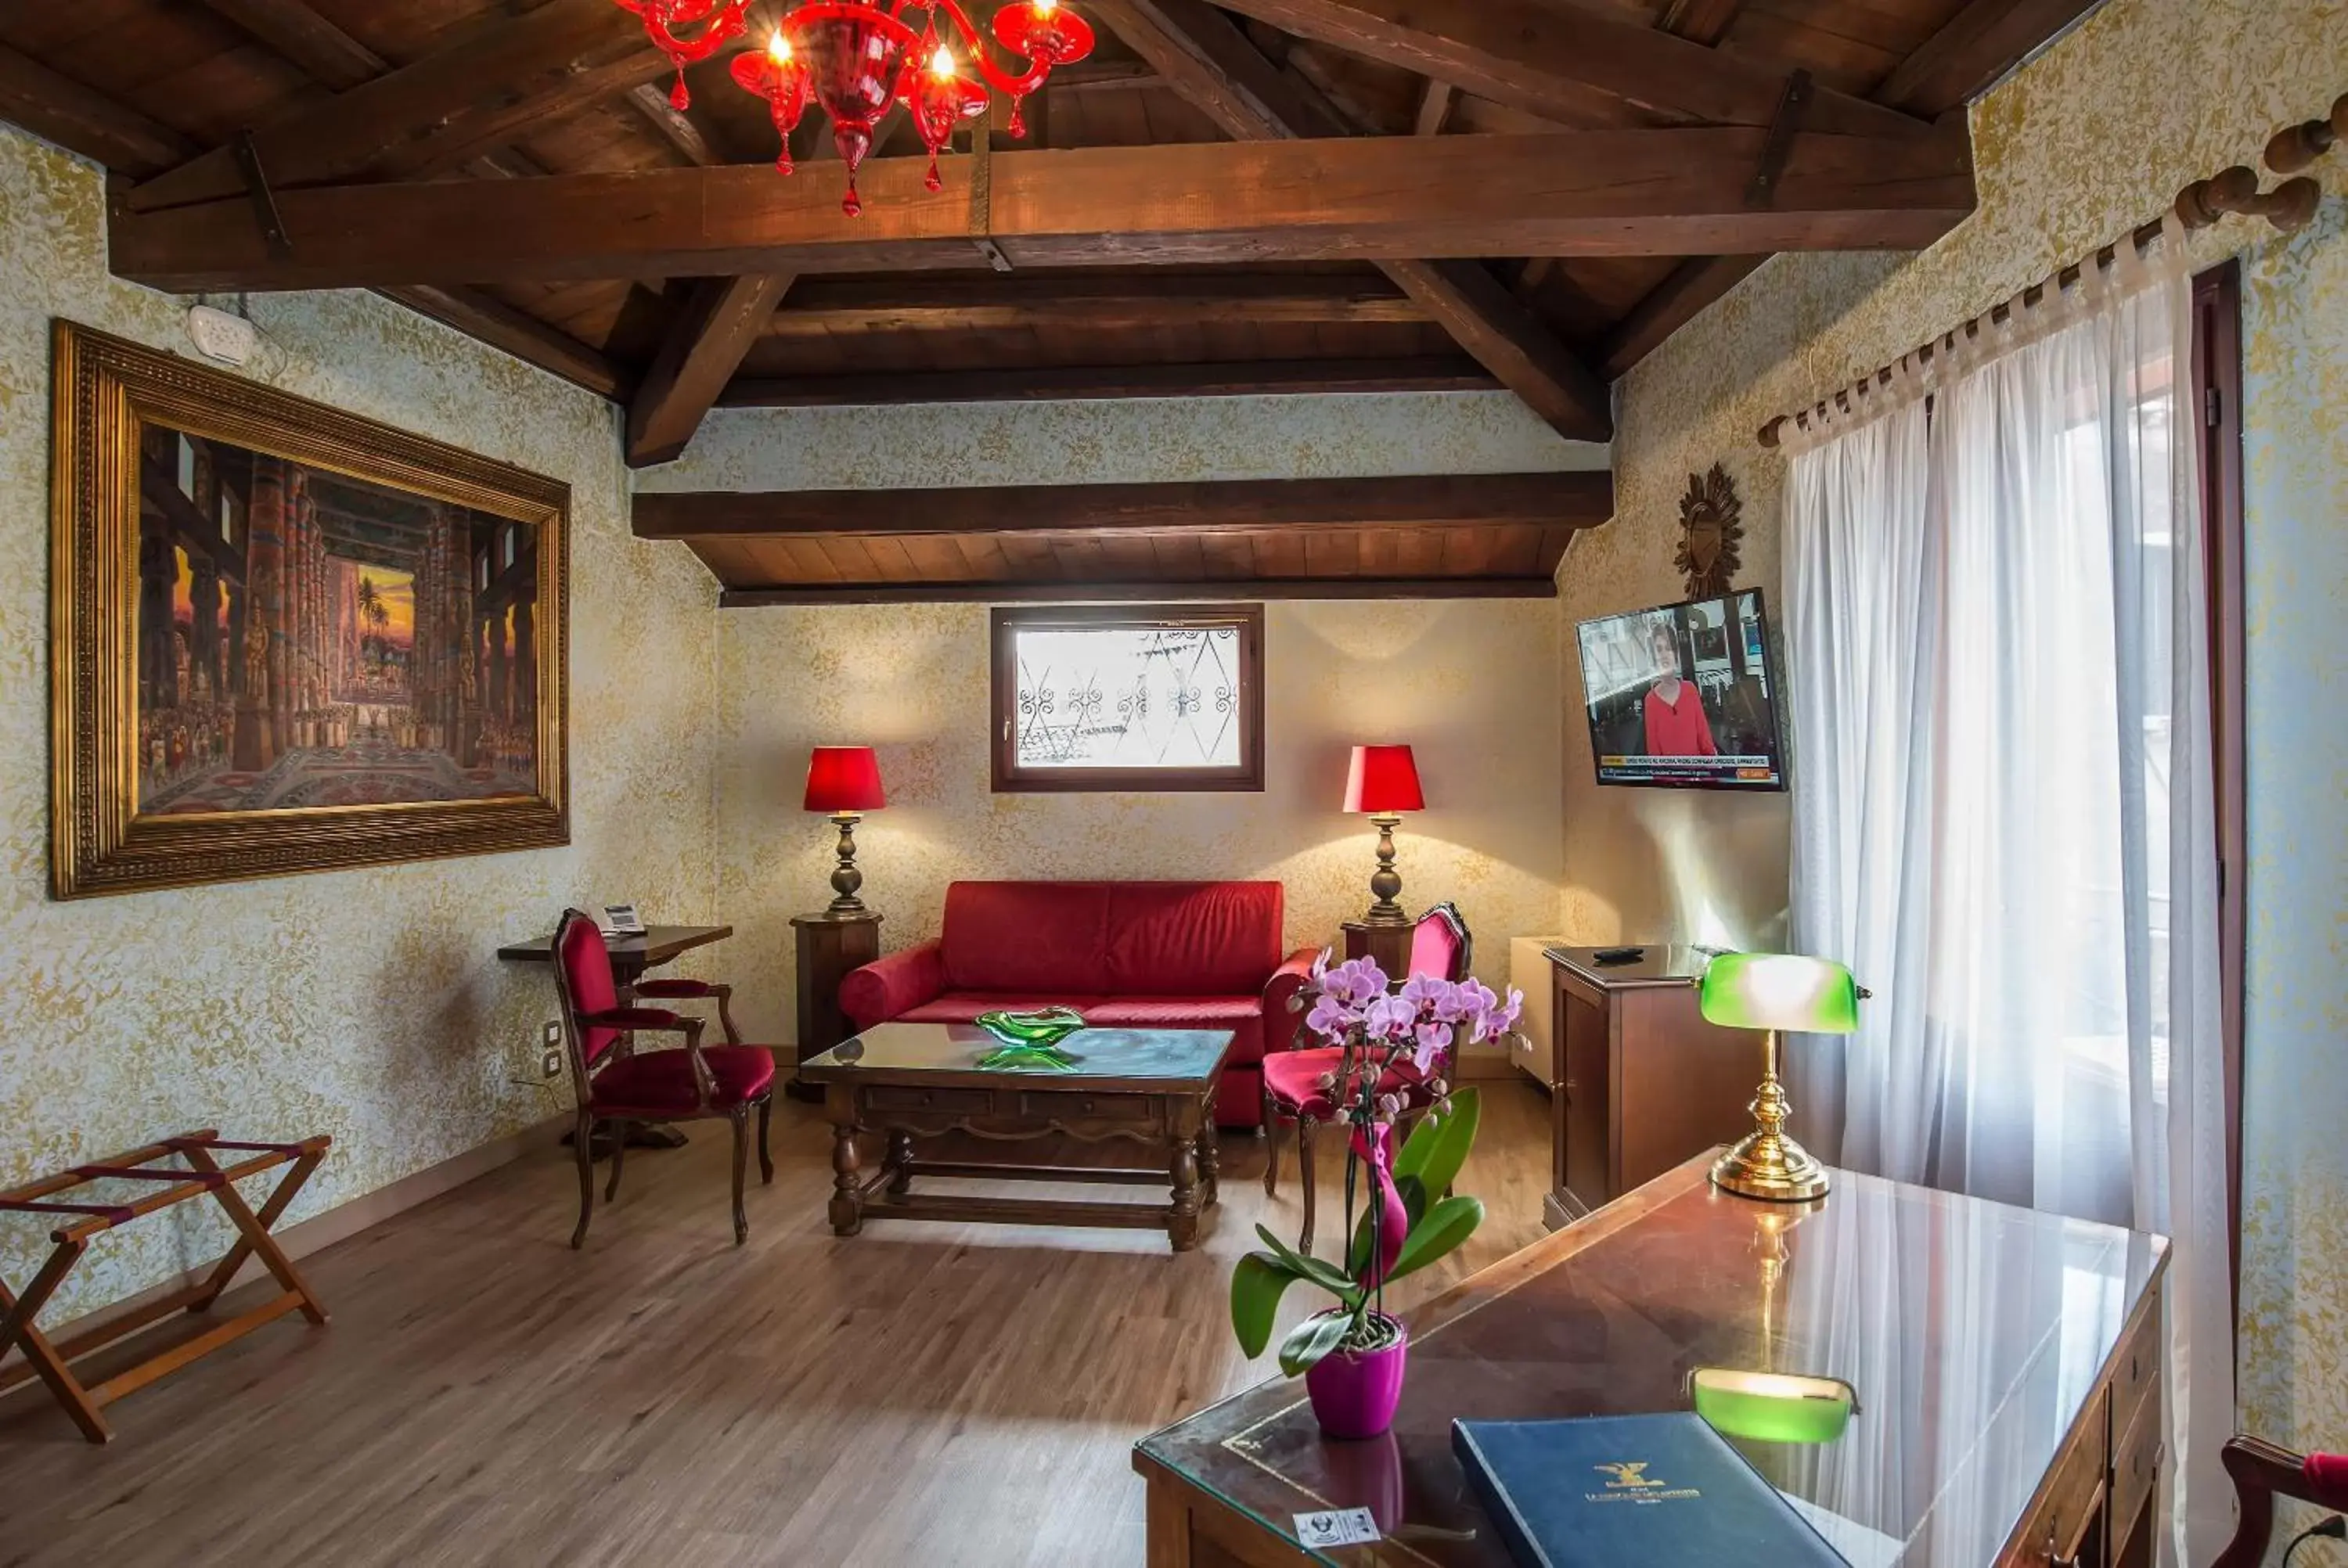
[[841,1012],[871,1028],[1064,1005],[1101,1028],[1228,1028],[1214,1120],[1256,1127],[1266,1033],[1296,1028],[1315,953],[1282,960],[1280,904],[1280,883],[953,883],[939,939],[852,972]]

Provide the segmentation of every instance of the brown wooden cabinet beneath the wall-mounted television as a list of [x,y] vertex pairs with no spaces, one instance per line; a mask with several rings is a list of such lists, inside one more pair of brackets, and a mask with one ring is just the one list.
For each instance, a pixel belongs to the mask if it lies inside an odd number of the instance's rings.
[[1625,965],[1597,962],[1597,948],[1550,948],[1547,958],[1557,991],[1545,1209],[1564,1225],[1745,1136],[1761,1035],[1695,1012],[1705,951],[1653,946]]

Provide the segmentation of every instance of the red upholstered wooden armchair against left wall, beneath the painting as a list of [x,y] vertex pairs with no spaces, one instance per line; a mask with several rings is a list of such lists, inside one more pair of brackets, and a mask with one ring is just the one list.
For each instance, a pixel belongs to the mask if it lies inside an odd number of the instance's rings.
[[[726,1045],[702,1045],[702,1019],[681,1016],[667,1007],[622,1007],[610,974],[610,948],[594,915],[564,911],[554,927],[554,995],[564,1012],[564,1040],[571,1045],[571,1089],[578,1096],[580,1223],[571,1246],[587,1242],[594,1216],[594,1124],[610,1122],[610,1183],[603,1202],[620,1197],[620,1164],[627,1157],[629,1122],[686,1122],[726,1117],[733,1122],[733,1199],[735,1246],[749,1239],[742,1214],[742,1164],[749,1113],[758,1108],[758,1178],[775,1181],[775,1160],[765,1153],[765,1124],[775,1106],[775,1052],[742,1045],[735,1033],[730,986],[711,981],[655,979],[636,981],[639,1000],[714,1000]],[[634,1033],[676,1033],[683,1049],[639,1052]]]

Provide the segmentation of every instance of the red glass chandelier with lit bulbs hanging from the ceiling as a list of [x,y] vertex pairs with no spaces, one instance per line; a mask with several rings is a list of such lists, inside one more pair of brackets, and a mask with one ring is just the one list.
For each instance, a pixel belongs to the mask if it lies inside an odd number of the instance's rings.
[[[615,0],[643,16],[653,47],[676,66],[669,103],[686,108],[686,66],[711,59],[749,26],[751,0]],[[920,31],[906,21],[920,12]],[[946,33],[939,33],[944,19]],[[953,49],[960,40],[963,54]],[[841,211],[850,218],[864,211],[857,197],[857,169],[871,153],[873,129],[892,101],[913,115],[920,146],[930,148],[930,190],[939,188],[937,153],[953,138],[960,120],[986,113],[993,96],[1012,101],[1012,136],[1026,136],[1021,101],[1043,87],[1052,66],[1066,66],[1092,54],[1092,26],[1059,0],[1012,0],[996,12],[993,42],[1021,61],[1019,70],[996,66],[986,40],[958,0],[803,0],[789,9],[765,40],[765,49],[735,56],[733,77],[747,92],[765,99],[782,136],[775,167],[791,171],[791,131],[808,103],[831,117],[831,141],[848,167],[848,197]],[[979,80],[963,75],[963,56]]]

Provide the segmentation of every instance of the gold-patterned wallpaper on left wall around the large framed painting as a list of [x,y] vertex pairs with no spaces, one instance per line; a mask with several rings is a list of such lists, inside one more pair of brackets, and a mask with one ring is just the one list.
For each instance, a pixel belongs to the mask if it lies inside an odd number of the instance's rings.
[[[566,1087],[510,1082],[535,1073],[554,998],[498,944],[573,901],[707,918],[716,883],[716,587],[683,552],[629,538],[613,411],[371,293],[251,298],[272,340],[256,373],[277,387],[571,484],[573,843],[54,904],[49,319],[193,354],[190,300],[108,277],[99,171],[12,127],[0,277],[0,1185],[193,1127],[324,1131],[336,1148],[298,1221],[561,1110]],[[216,1253],[209,1209],[99,1242],[45,1322]],[[0,1277],[23,1284],[42,1232],[0,1218]]]

